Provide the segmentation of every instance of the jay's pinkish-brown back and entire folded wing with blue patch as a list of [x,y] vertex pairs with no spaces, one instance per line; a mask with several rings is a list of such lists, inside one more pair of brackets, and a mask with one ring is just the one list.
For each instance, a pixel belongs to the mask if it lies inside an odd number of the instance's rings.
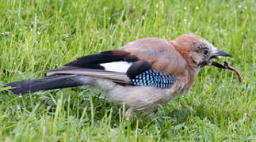
[[44,73],[80,74],[118,83],[168,88],[186,62],[166,39],[138,39],[118,50],[90,54]]

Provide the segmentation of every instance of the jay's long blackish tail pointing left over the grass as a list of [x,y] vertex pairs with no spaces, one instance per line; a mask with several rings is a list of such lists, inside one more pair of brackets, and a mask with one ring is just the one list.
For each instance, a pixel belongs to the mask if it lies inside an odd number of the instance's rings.
[[25,80],[6,84],[5,87],[12,87],[8,91],[13,94],[25,94],[29,92],[38,92],[40,90],[52,90],[58,88],[70,88],[91,84],[94,82],[93,77],[67,74],[54,74],[36,80]]

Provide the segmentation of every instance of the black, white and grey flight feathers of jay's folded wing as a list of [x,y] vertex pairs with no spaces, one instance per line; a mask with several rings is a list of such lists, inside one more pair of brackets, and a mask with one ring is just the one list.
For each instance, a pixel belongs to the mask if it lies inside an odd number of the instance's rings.
[[46,70],[43,73],[86,75],[132,84],[126,70],[135,61],[137,58],[124,50],[108,50],[78,58],[63,68]]

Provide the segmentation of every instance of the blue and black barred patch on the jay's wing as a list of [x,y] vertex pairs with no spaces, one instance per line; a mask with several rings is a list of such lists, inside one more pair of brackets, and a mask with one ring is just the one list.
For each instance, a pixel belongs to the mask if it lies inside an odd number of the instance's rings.
[[170,88],[177,80],[171,74],[165,74],[149,69],[132,78],[132,84],[139,86],[155,86],[156,88]]

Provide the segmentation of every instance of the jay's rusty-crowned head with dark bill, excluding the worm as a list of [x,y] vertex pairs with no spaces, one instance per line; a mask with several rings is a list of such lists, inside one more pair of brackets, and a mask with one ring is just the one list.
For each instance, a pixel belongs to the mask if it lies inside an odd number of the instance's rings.
[[[182,35],[170,42],[193,69],[201,69],[212,64],[212,58],[231,57],[230,54],[218,50],[207,40],[194,35]],[[218,67],[218,66],[217,66]]]

